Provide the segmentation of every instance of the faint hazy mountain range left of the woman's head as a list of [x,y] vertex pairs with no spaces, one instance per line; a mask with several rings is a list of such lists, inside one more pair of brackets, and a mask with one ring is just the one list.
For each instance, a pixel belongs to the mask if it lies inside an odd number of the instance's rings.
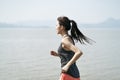
[[0,28],[48,28],[55,26],[55,21],[24,21],[14,24],[0,23]]

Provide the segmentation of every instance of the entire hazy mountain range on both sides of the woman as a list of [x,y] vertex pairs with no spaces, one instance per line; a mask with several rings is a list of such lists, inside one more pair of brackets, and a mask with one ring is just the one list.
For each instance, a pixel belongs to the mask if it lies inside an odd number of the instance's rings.
[[[98,24],[79,24],[85,28],[120,28],[120,19],[109,18]],[[55,21],[26,21],[16,24],[0,23],[0,28],[48,28],[55,27]]]

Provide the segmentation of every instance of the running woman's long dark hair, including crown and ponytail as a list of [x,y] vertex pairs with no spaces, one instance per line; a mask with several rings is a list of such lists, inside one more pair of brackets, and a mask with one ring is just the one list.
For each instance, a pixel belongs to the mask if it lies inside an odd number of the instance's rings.
[[71,37],[76,40],[79,41],[81,44],[85,44],[85,42],[91,44],[91,40],[90,38],[86,37],[77,27],[77,23],[74,20],[70,20],[68,17],[66,16],[60,16],[57,18],[58,22],[60,25],[63,25],[65,27],[66,31],[71,30]]

